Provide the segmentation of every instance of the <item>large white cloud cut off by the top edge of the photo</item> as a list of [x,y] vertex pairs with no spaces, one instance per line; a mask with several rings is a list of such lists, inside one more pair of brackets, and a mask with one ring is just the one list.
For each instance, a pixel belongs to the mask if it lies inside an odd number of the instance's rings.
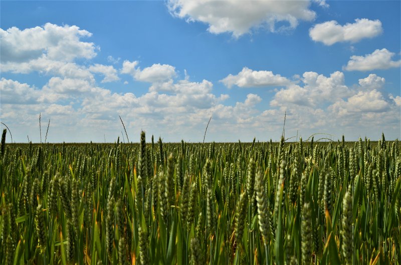
[[248,4],[237,0],[169,0],[167,6],[176,17],[207,23],[210,32],[231,32],[235,37],[256,27],[268,27],[274,32],[275,23],[280,21],[288,22],[285,28],[295,28],[298,20],[311,21],[316,16],[309,9],[309,1],[252,1]]

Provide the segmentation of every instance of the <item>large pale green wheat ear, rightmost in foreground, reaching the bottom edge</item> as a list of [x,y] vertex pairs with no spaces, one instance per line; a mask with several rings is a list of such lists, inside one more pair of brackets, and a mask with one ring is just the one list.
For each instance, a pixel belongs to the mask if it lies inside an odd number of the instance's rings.
[[344,256],[346,264],[352,264],[352,194],[349,190],[345,192],[342,203],[342,255]]

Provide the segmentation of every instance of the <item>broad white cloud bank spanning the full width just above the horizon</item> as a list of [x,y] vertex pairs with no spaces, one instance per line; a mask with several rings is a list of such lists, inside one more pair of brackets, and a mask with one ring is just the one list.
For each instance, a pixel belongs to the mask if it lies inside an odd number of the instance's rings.
[[[81,79],[52,77],[38,89],[3,78],[0,113],[2,121],[22,131],[18,137],[23,140],[27,128],[34,131],[37,127],[39,112],[45,119],[51,118],[51,135],[57,141],[103,141],[104,134],[117,137],[121,130],[118,115],[133,133],[133,139],[144,129],[148,134],[161,135],[166,141],[179,138],[202,141],[210,116],[213,118],[207,140],[236,140],[238,137],[252,140],[253,136],[278,139],[285,111],[286,137],[296,135],[299,130],[306,137],[313,132],[330,132],[337,136],[359,132],[373,138],[377,128],[380,133],[384,129],[396,135],[401,99],[399,95],[385,97],[377,89],[370,89],[373,84],[380,83],[380,78],[369,75],[359,81],[362,85],[349,88],[344,84],[342,72],[333,72],[330,76],[305,72],[300,84],[290,83],[276,91],[270,107],[259,104],[262,97],[253,93],[233,104],[225,103],[229,96],[214,93],[213,83],[208,80],[170,79],[152,83],[149,91],[135,95],[115,93]],[[371,85],[369,89],[367,85]],[[115,139],[114,136],[106,138]]]

